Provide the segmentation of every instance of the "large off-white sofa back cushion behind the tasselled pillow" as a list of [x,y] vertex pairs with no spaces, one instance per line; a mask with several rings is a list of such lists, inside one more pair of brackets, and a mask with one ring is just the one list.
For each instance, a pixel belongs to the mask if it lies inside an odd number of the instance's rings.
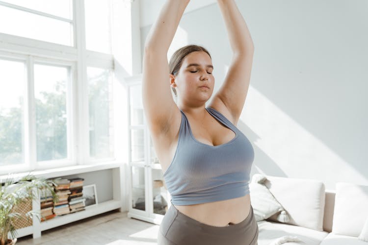
[[[314,179],[267,176],[264,185],[289,214],[288,224],[323,231],[325,186]],[[268,218],[277,221],[277,214]]]

